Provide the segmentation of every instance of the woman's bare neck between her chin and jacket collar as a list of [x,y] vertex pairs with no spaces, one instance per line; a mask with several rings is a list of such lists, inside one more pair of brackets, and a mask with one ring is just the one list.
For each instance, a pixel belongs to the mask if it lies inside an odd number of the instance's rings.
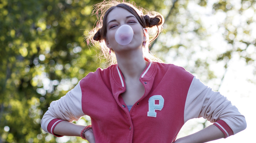
[[144,60],[142,49],[140,51],[126,51],[123,54],[116,53],[116,56],[118,67],[124,78],[139,79],[148,63]]

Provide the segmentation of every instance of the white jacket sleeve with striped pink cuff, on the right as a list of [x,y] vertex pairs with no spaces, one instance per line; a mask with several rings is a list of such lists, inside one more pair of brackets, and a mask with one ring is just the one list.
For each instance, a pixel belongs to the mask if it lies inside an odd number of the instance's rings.
[[[246,128],[245,117],[220,92],[205,86],[199,79],[193,78],[188,90],[184,109],[184,122],[200,118],[216,122],[225,137],[234,135]],[[224,121],[224,122],[223,122]],[[233,131],[228,131],[231,129]]]

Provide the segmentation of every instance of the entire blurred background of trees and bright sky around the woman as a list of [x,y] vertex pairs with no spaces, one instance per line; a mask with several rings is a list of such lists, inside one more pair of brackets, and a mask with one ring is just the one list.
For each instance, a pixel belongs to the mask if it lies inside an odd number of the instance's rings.
[[[42,131],[50,103],[96,68],[99,50],[84,37],[97,0],[0,0],[0,143],[86,143]],[[255,0],[136,0],[159,11],[164,31],[150,51],[220,91],[245,115],[247,128],[212,143],[253,142],[256,125]],[[88,116],[76,123],[90,124]],[[192,119],[178,137],[211,123]]]

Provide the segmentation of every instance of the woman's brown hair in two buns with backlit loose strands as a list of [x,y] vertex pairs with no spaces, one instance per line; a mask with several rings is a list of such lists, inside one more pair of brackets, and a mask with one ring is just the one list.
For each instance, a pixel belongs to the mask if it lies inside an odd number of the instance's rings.
[[[145,45],[145,51],[144,56],[148,60],[151,61],[159,61],[162,62],[159,58],[156,58],[155,56],[152,56],[149,54],[148,45],[150,42],[155,40],[158,35],[160,34],[164,18],[163,16],[155,11],[146,11],[143,8],[137,8],[134,3],[127,3],[127,2],[118,2],[118,1],[103,1],[99,4],[94,5],[94,11],[93,15],[96,15],[98,18],[96,27],[92,29],[89,32],[89,35],[87,36],[87,43],[92,43],[93,45],[99,44],[102,55],[107,59],[108,65],[115,64],[116,63],[116,57],[115,54],[109,54],[109,48],[107,48],[104,39],[106,38],[107,33],[107,16],[108,14],[114,9],[114,8],[124,8],[127,11],[129,11],[131,14],[133,14],[137,20],[139,21],[139,24],[143,28],[148,28],[149,34],[151,35],[149,37],[148,34],[146,45]],[[146,13],[146,14],[143,14]],[[141,41],[142,42],[142,41]],[[113,50],[111,51],[114,52]]]

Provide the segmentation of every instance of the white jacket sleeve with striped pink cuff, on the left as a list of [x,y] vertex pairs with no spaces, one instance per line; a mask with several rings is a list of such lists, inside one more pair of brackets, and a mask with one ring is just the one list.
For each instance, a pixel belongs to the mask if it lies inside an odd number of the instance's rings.
[[[74,89],[67,92],[57,101],[53,101],[41,120],[42,129],[53,134],[54,127],[63,120],[72,122],[77,121],[85,114],[81,105],[81,88],[80,81]],[[53,134],[54,135],[54,134]],[[58,136],[58,135],[56,135]]]

